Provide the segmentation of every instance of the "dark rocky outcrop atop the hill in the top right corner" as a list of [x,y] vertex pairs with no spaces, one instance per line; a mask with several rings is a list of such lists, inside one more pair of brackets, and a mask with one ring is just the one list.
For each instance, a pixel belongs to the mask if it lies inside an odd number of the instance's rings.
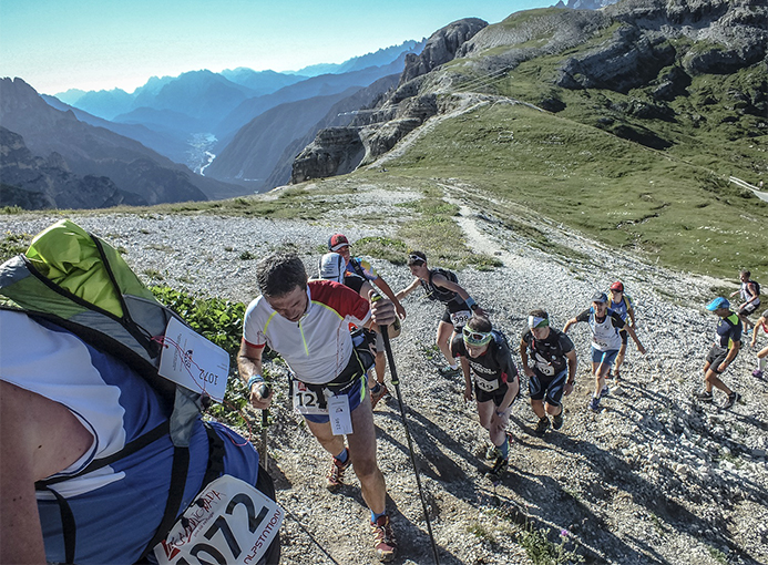
[[[604,13],[622,27],[563,61],[555,85],[626,93],[675,62],[693,76],[725,74],[761,61],[768,49],[768,7],[760,0],[625,0]],[[659,86],[661,99],[674,93],[673,84]]]

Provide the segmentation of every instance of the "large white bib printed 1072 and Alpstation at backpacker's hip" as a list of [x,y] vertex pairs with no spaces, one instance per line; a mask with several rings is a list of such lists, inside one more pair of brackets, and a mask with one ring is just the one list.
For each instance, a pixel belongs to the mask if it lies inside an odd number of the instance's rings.
[[284,515],[275,501],[245,481],[219,476],[154,547],[155,557],[160,565],[255,565],[277,535]]

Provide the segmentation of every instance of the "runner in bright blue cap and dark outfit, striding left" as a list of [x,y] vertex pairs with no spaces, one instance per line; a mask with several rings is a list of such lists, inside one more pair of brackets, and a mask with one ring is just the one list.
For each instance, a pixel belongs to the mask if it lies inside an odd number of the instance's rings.
[[711,402],[711,389],[717,388],[728,394],[724,409],[731,408],[741,396],[734,392],[720,380],[720,374],[734,362],[741,348],[741,323],[739,317],[730,309],[730,302],[718,296],[707,305],[707,310],[715,312],[720,321],[717,322],[717,338],[709,349],[704,362],[704,386],[700,392],[695,392],[702,402]]

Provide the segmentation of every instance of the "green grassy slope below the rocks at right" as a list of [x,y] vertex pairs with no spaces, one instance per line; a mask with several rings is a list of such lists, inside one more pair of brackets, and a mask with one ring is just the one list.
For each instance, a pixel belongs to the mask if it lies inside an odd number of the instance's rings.
[[[556,16],[555,9],[531,10],[496,25],[510,31]],[[550,35],[475,51],[433,71],[453,75],[459,92],[509,96],[559,112],[501,103],[478,109],[443,121],[388,168],[457,178],[668,267],[728,277],[748,267],[767,277],[768,204],[728,182],[733,175],[768,183],[766,65],[684,75],[666,96],[654,91],[680,73],[679,66],[664,68],[626,93],[555,85],[566,58],[611,41],[619,25],[578,47],[529,58],[490,81],[485,69],[492,61],[543,47]],[[678,62],[713,48],[686,38],[667,44]]]

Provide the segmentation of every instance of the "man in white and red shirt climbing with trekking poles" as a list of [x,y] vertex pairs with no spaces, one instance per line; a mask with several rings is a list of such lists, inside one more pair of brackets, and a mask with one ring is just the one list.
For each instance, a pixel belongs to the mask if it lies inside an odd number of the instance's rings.
[[268,345],[290,368],[294,408],[334,456],[327,486],[342,485],[344,472],[352,464],[371,511],[376,554],[380,561],[391,561],[397,544],[385,506],[387,485],[376,461],[371,403],[363,402],[366,371],[373,356],[365,343],[354,343],[349,323],[389,325],[397,316],[395,306],[387,299],[371,302],[330,280],[308,282],[295,254],[275,253],[262,259],[256,280],[262,296],[246,310],[237,363],[250,403],[264,410],[272,402],[272,392],[267,398],[259,394],[262,355]]

